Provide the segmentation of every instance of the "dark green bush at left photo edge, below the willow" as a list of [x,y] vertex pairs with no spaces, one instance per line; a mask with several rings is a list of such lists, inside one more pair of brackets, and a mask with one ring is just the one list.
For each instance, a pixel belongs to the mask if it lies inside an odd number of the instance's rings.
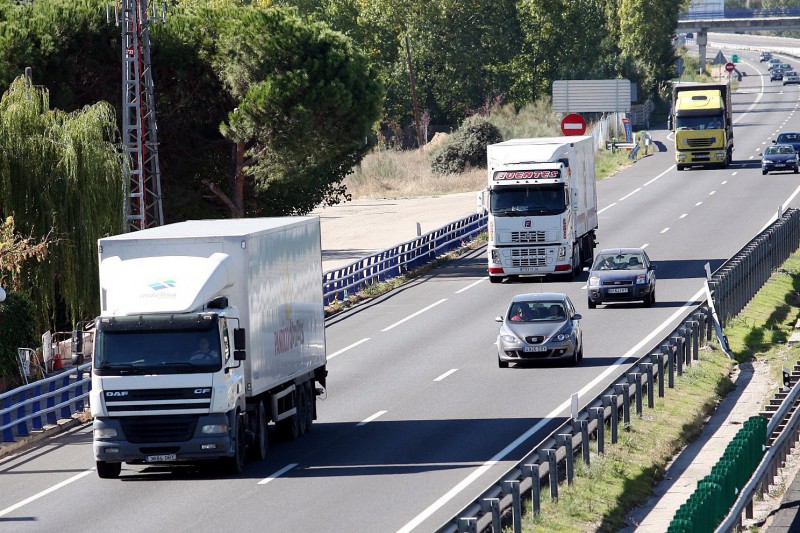
[[17,348],[37,345],[33,304],[20,293],[10,293],[0,302],[0,378],[20,380]]

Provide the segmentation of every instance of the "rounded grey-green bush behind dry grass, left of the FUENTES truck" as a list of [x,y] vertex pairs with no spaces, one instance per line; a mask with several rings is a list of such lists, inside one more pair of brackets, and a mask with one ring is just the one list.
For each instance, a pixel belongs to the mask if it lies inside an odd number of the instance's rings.
[[461,173],[471,167],[486,167],[486,147],[503,141],[497,127],[484,117],[473,116],[448,137],[431,161],[439,174]]

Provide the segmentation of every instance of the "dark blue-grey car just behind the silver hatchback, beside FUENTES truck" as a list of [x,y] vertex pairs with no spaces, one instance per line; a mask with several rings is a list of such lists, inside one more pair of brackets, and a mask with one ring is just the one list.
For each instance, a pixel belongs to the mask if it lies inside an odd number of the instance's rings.
[[656,266],[642,248],[601,250],[589,270],[589,309],[610,302],[656,301]]

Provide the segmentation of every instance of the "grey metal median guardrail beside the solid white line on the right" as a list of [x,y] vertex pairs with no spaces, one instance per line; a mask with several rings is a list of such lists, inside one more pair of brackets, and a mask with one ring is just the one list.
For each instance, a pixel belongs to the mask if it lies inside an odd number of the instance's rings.
[[[718,312],[724,309],[726,316],[731,317],[741,311],[772,271],[798,248],[800,211],[792,209],[780,215],[711,277],[709,287]],[[753,280],[748,279],[750,275]],[[543,480],[547,479],[550,497],[557,499],[561,479],[568,484],[572,482],[576,450],[580,450],[584,463],[590,464],[590,436],[597,441],[598,453],[602,454],[606,430],[611,434],[611,442],[616,442],[620,418],[623,424],[630,421],[632,402],[636,414],[641,415],[645,397],[648,407],[653,407],[656,388],[659,397],[663,397],[665,382],[669,388],[674,387],[675,376],[682,375],[685,366],[699,359],[699,346],[711,340],[713,330],[713,317],[707,304],[704,301],[697,306],[653,351],[640,358],[630,370],[622,372],[577,417],[568,418],[437,532],[499,533],[501,519],[509,511],[515,533],[520,531],[523,495],[531,499],[533,513],[537,514]],[[565,463],[563,468],[559,467],[561,462]]]

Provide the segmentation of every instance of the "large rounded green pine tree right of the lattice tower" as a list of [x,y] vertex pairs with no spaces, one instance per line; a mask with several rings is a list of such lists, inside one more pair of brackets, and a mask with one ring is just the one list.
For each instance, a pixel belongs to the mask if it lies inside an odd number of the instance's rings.
[[234,217],[303,214],[346,197],[369,149],[383,91],[365,56],[320,23],[277,9],[226,11],[212,65],[235,102],[220,131],[235,146]]

